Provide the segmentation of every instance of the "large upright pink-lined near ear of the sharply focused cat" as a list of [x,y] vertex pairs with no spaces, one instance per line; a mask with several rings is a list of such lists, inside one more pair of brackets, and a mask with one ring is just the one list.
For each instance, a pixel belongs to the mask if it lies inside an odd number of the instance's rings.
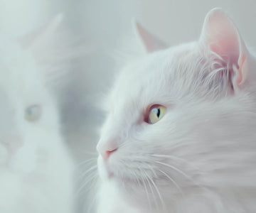
[[242,87],[249,75],[246,63],[250,55],[238,29],[222,9],[208,12],[199,43],[218,54],[232,69],[234,89]]

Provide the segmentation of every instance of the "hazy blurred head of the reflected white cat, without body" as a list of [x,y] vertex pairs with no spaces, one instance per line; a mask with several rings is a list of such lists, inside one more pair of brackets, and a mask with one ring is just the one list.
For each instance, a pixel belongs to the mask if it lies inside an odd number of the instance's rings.
[[59,16],[18,41],[0,37],[1,170],[21,174],[40,170],[39,164],[62,143],[58,111],[46,89],[48,70],[39,54],[33,54],[39,53],[38,42],[56,31],[58,23]]

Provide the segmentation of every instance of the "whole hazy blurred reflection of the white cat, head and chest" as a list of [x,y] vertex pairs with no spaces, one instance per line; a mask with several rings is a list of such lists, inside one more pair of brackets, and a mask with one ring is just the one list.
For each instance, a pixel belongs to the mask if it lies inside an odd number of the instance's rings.
[[[47,66],[41,66],[40,54],[37,60],[31,54],[60,19],[17,43],[0,37],[1,213],[74,212],[73,160],[60,136],[55,100],[46,89]],[[46,45],[41,48],[43,53]]]

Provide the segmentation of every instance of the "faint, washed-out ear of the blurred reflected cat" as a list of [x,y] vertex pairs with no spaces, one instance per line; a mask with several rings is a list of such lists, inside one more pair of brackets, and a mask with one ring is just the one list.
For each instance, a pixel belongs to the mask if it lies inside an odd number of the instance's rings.
[[43,67],[41,70],[46,82],[54,86],[68,80],[65,76],[73,68],[73,59],[85,54],[83,45],[78,49],[73,43],[63,19],[63,13],[59,13],[41,28],[18,39],[22,48],[28,50],[35,62]]

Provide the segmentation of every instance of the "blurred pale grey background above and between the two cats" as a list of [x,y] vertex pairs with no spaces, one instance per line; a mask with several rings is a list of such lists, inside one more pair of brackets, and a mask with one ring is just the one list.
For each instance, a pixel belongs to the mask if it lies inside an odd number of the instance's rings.
[[[176,45],[199,37],[204,17],[213,7],[225,9],[247,45],[256,47],[255,0],[0,0],[0,32],[18,38],[64,13],[69,39],[85,51],[70,61],[72,69],[53,94],[76,164],[94,159],[81,168],[85,171],[96,163],[98,130],[104,121],[102,97],[115,73],[130,58],[144,54],[132,18],[169,45]],[[87,197],[86,190],[80,194],[78,212],[86,212]]]

